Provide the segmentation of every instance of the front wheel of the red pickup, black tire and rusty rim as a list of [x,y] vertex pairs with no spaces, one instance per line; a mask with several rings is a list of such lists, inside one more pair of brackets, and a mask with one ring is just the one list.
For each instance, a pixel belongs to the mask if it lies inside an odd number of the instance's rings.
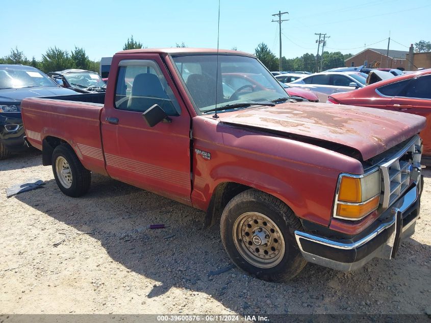
[[235,196],[220,221],[221,241],[232,261],[273,282],[292,279],[307,264],[295,240],[294,231],[300,229],[286,204],[256,189]]

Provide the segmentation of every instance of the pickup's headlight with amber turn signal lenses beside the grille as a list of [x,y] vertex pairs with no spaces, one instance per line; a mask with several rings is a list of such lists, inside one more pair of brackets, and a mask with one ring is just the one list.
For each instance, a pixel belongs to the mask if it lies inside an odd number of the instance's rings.
[[381,179],[378,169],[365,176],[340,176],[334,217],[360,220],[378,208]]

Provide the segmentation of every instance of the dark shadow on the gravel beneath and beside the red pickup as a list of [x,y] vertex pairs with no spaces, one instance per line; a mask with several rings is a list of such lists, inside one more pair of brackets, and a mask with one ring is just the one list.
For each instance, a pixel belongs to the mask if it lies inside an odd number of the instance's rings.
[[[81,198],[65,196],[54,180],[16,198],[81,232],[91,232],[113,260],[159,281],[149,298],[174,286],[185,287],[212,295],[227,308],[253,313],[369,313],[372,309],[390,313],[397,312],[397,306],[400,312],[412,313],[426,303],[426,295],[419,293],[429,288],[430,263],[423,265],[423,259],[431,259],[431,247],[412,239],[400,246],[396,259],[374,259],[354,272],[308,264],[298,277],[283,284],[254,279],[237,268],[209,277],[210,271],[231,261],[218,228],[201,229],[204,212],[98,175],[93,175],[90,191]],[[122,237],[155,223],[166,228]],[[170,235],[174,236],[166,238]],[[412,305],[405,300],[411,288],[421,295],[411,300]]]

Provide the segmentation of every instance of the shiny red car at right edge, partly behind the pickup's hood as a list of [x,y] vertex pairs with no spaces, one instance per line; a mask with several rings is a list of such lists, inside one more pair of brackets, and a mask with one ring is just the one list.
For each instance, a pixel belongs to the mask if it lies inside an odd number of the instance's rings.
[[351,92],[329,95],[328,103],[418,114],[426,117],[422,163],[431,166],[431,69],[403,74]]

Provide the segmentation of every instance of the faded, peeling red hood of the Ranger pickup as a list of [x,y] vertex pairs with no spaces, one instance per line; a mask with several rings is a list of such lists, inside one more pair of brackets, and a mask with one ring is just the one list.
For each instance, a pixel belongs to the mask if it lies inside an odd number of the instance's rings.
[[409,113],[323,103],[284,103],[219,113],[230,125],[317,139],[352,148],[363,160],[412,137],[425,118]]

